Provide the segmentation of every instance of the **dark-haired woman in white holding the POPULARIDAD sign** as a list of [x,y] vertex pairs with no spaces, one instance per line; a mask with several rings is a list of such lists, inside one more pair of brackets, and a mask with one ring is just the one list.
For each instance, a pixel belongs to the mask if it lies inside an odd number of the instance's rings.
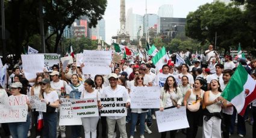
[[[84,89],[86,91],[83,91],[81,94],[81,99],[84,98],[97,98],[98,100],[98,107],[101,107],[101,95],[99,94],[98,91],[95,89],[95,84],[92,79],[87,79],[84,82]],[[82,119],[82,124],[84,126],[84,137],[85,138],[91,138],[90,133],[92,133],[92,138],[96,138],[97,136],[97,124],[99,121],[99,116],[96,117],[88,117],[88,118],[81,118]]]

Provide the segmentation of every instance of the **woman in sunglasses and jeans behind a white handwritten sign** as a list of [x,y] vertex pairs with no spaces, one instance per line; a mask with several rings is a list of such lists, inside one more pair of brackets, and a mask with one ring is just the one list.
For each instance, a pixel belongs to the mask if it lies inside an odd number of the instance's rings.
[[[137,75],[134,81],[134,86],[136,87],[143,87],[143,76],[142,74]],[[134,130],[136,128],[137,120],[140,119],[140,138],[144,138],[145,133],[145,119],[146,119],[146,113],[148,110],[146,109],[131,109],[131,137],[134,137]]]

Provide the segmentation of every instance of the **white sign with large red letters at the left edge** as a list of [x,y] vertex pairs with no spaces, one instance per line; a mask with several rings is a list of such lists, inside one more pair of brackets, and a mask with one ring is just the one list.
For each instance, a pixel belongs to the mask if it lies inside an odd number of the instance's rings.
[[0,98],[0,123],[26,122],[28,115],[27,95]]

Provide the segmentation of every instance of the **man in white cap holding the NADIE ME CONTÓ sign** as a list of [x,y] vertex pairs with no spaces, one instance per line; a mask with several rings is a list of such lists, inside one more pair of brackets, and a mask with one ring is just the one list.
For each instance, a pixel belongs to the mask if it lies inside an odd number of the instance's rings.
[[[104,88],[102,92],[103,98],[122,97],[126,99],[126,107],[130,106],[130,97],[127,89],[124,86],[117,85],[117,74],[111,73],[108,75],[110,86]],[[120,135],[122,138],[127,138],[125,116],[108,116],[108,137],[114,137],[114,127],[116,122],[119,127]]]

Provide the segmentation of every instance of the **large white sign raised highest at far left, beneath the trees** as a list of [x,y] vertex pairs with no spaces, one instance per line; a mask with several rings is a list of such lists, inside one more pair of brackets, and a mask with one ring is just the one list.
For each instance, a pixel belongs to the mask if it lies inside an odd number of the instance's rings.
[[28,80],[36,78],[36,73],[43,73],[44,56],[37,55],[21,55],[22,68]]

